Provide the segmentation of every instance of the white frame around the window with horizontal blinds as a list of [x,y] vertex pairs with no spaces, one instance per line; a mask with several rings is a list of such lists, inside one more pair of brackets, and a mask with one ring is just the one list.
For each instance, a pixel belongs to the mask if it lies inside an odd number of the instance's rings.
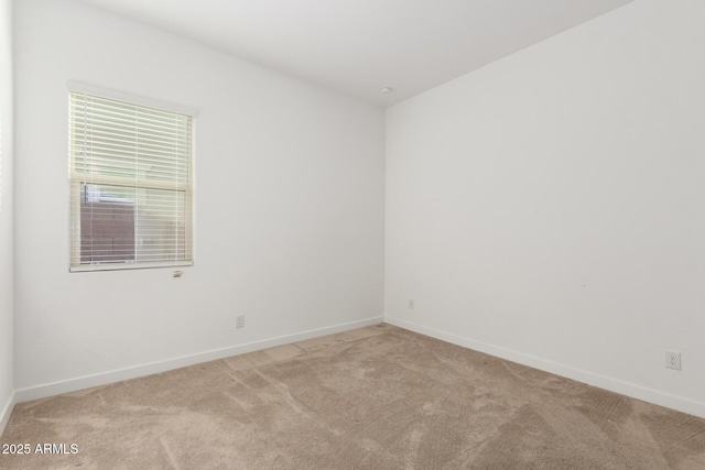
[[[194,265],[194,247],[195,247],[195,227],[194,227],[194,198],[195,198],[195,164],[194,164],[194,153],[195,153],[195,134],[196,134],[196,116],[197,112],[189,107],[176,105],[172,102],[166,102],[162,100],[156,100],[152,98],[147,98],[142,96],[135,96],[130,94],[124,94],[121,91],[110,90],[101,87],[96,87],[93,85],[87,85],[78,81],[69,80],[67,81],[67,103],[68,103],[68,186],[69,186],[69,253],[68,253],[68,265],[69,272],[96,272],[96,271],[121,271],[121,270],[141,270],[141,269],[160,269],[160,267],[186,267]],[[105,262],[105,263],[82,263],[82,237],[80,237],[80,192],[82,185],[89,184],[85,181],[84,173],[75,172],[75,155],[72,150],[72,94],[85,94],[95,96],[101,99],[120,101],[130,106],[137,106],[142,108],[151,108],[159,111],[171,112],[175,114],[185,114],[191,120],[191,135],[189,135],[189,152],[188,152],[188,162],[187,162],[187,183],[184,192],[184,222],[186,225],[186,243],[184,250],[184,260],[178,261],[134,261],[134,262]],[[98,181],[101,178],[98,177]],[[109,179],[109,178],[107,178]],[[137,182],[137,178],[135,178]],[[126,187],[133,188],[145,188],[145,189],[163,189],[159,186],[164,186],[163,184],[156,183],[154,186],[150,187],[150,184],[144,182],[149,182],[149,179],[140,179],[141,184],[137,184],[134,186],[127,185]],[[102,183],[110,184],[110,183]],[[170,190],[170,189],[167,189]],[[76,196],[75,196],[76,195]],[[139,232],[138,232],[139,233]]]

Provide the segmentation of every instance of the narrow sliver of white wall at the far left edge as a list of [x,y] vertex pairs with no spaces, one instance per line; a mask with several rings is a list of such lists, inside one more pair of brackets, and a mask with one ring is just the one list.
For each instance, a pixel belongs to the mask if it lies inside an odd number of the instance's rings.
[[12,118],[12,1],[0,0],[0,434],[10,416],[14,391]]

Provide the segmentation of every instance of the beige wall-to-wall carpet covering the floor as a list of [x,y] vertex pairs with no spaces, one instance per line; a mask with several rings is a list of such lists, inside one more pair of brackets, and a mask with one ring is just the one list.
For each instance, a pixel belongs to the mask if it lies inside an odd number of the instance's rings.
[[389,325],[23,403],[0,441],[32,448],[2,469],[705,469],[705,419]]

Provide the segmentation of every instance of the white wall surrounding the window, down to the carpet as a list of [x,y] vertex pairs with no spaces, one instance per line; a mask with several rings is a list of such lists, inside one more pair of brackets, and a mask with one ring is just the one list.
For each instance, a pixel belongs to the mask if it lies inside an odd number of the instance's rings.
[[[77,1],[15,10],[19,398],[381,320],[382,109]],[[67,79],[198,110],[182,278],[68,273]]]

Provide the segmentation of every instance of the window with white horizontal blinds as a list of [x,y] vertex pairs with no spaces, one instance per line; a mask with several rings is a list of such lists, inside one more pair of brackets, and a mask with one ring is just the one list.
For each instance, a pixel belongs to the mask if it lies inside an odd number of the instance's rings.
[[69,95],[70,271],[193,264],[192,117]]

